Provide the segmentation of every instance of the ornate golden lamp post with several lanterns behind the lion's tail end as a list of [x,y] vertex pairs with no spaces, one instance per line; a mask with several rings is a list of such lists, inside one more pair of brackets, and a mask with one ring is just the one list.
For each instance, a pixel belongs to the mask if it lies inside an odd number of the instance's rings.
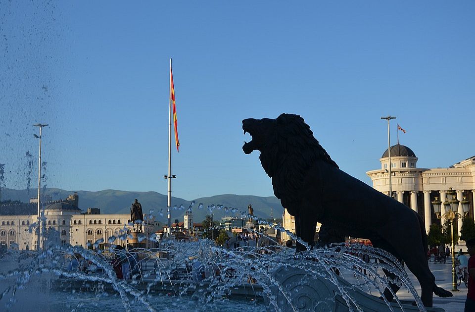
[[[464,215],[461,215],[457,212],[459,208],[460,201],[455,196],[455,191],[452,188],[449,188],[447,191],[447,200],[444,203],[441,203],[438,197],[435,197],[435,200],[432,202],[432,206],[434,207],[435,215],[437,219],[441,219],[445,217],[447,221],[450,222],[450,234],[452,240],[452,291],[459,291],[457,289],[457,280],[455,275],[455,244],[454,244],[454,221],[460,217],[465,217],[469,212],[470,202],[464,197],[462,203],[462,208],[464,210]],[[451,198],[451,199],[450,199]],[[445,211],[444,214],[440,213],[441,206],[444,205]]]

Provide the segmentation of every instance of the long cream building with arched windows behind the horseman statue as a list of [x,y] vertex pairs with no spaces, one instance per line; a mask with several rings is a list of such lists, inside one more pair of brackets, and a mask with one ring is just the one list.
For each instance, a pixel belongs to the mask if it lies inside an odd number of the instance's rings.
[[[78,194],[70,195],[63,201],[56,201],[45,206],[46,228],[49,233],[46,244],[70,244],[87,247],[96,241],[103,239],[107,244],[128,245],[128,235],[132,232],[129,225],[130,214],[100,214],[98,208],[88,208],[82,212],[78,208]],[[25,204],[20,204],[25,206]],[[19,250],[36,250],[37,213],[28,207],[31,214],[14,214],[11,207],[2,207],[0,210],[8,210],[8,214],[0,215],[0,245]],[[24,209],[25,211],[25,209]],[[1,212],[1,211],[0,211]],[[145,220],[142,223],[145,234],[145,248],[154,247],[154,243],[148,238],[154,234],[154,220]],[[109,239],[112,238],[110,241]],[[101,244],[101,245],[102,245]]]

